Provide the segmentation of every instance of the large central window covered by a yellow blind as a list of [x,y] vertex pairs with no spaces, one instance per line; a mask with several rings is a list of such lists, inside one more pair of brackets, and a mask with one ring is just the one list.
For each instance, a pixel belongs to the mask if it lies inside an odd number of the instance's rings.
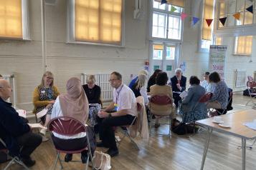
[[74,10],[75,21],[70,17],[70,24],[74,24],[75,29],[70,26],[74,36],[71,40],[121,45],[122,0],[74,1],[71,9]]

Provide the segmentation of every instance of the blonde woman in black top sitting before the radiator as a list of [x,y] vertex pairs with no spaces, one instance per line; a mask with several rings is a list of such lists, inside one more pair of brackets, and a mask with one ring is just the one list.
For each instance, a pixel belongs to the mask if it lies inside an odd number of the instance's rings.
[[89,117],[90,117],[90,125],[93,127],[95,133],[98,133],[98,123],[97,123],[97,114],[100,111],[102,102],[100,100],[100,86],[95,84],[95,76],[89,75],[87,76],[86,83],[82,85],[82,88],[85,90],[85,94],[89,101],[89,104],[96,104],[89,106]]

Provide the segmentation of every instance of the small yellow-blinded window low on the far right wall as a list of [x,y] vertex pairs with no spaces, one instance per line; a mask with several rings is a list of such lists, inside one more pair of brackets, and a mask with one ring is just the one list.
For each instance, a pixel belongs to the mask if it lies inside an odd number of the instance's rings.
[[252,36],[237,36],[234,54],[250,56],[252,54]]

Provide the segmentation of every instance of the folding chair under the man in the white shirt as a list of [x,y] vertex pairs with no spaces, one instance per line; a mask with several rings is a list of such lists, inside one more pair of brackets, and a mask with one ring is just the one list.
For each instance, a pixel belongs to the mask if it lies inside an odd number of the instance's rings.
[[[143,105],[137,102],[137,111],[138,114],[142,114],[143,112]],[[133,126],[133,124],[136,123],[138,116],[136,116],[132,123],[129,125],[125,125],[125,126],[120,126],[120,130],[123,133],[123,137],[121,137],[118,146],[120,146],[121,142],[123,141],[123,139],[125,137],[128,137],[128,139],[130,139],[131,143],[136,147],[136,149],[138,149],[138,151],[140,150],[140,148],[138,147],[138,144],[136,144],[136,142],[133,140],[133,138],[131,137],[130,131],[131,131],[131,127]]]

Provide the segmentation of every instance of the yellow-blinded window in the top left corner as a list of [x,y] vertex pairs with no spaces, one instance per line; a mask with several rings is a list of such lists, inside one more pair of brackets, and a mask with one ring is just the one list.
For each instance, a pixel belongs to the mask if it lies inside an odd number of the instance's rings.
[[28,39],[27,1],[0,0],[0,37]]

